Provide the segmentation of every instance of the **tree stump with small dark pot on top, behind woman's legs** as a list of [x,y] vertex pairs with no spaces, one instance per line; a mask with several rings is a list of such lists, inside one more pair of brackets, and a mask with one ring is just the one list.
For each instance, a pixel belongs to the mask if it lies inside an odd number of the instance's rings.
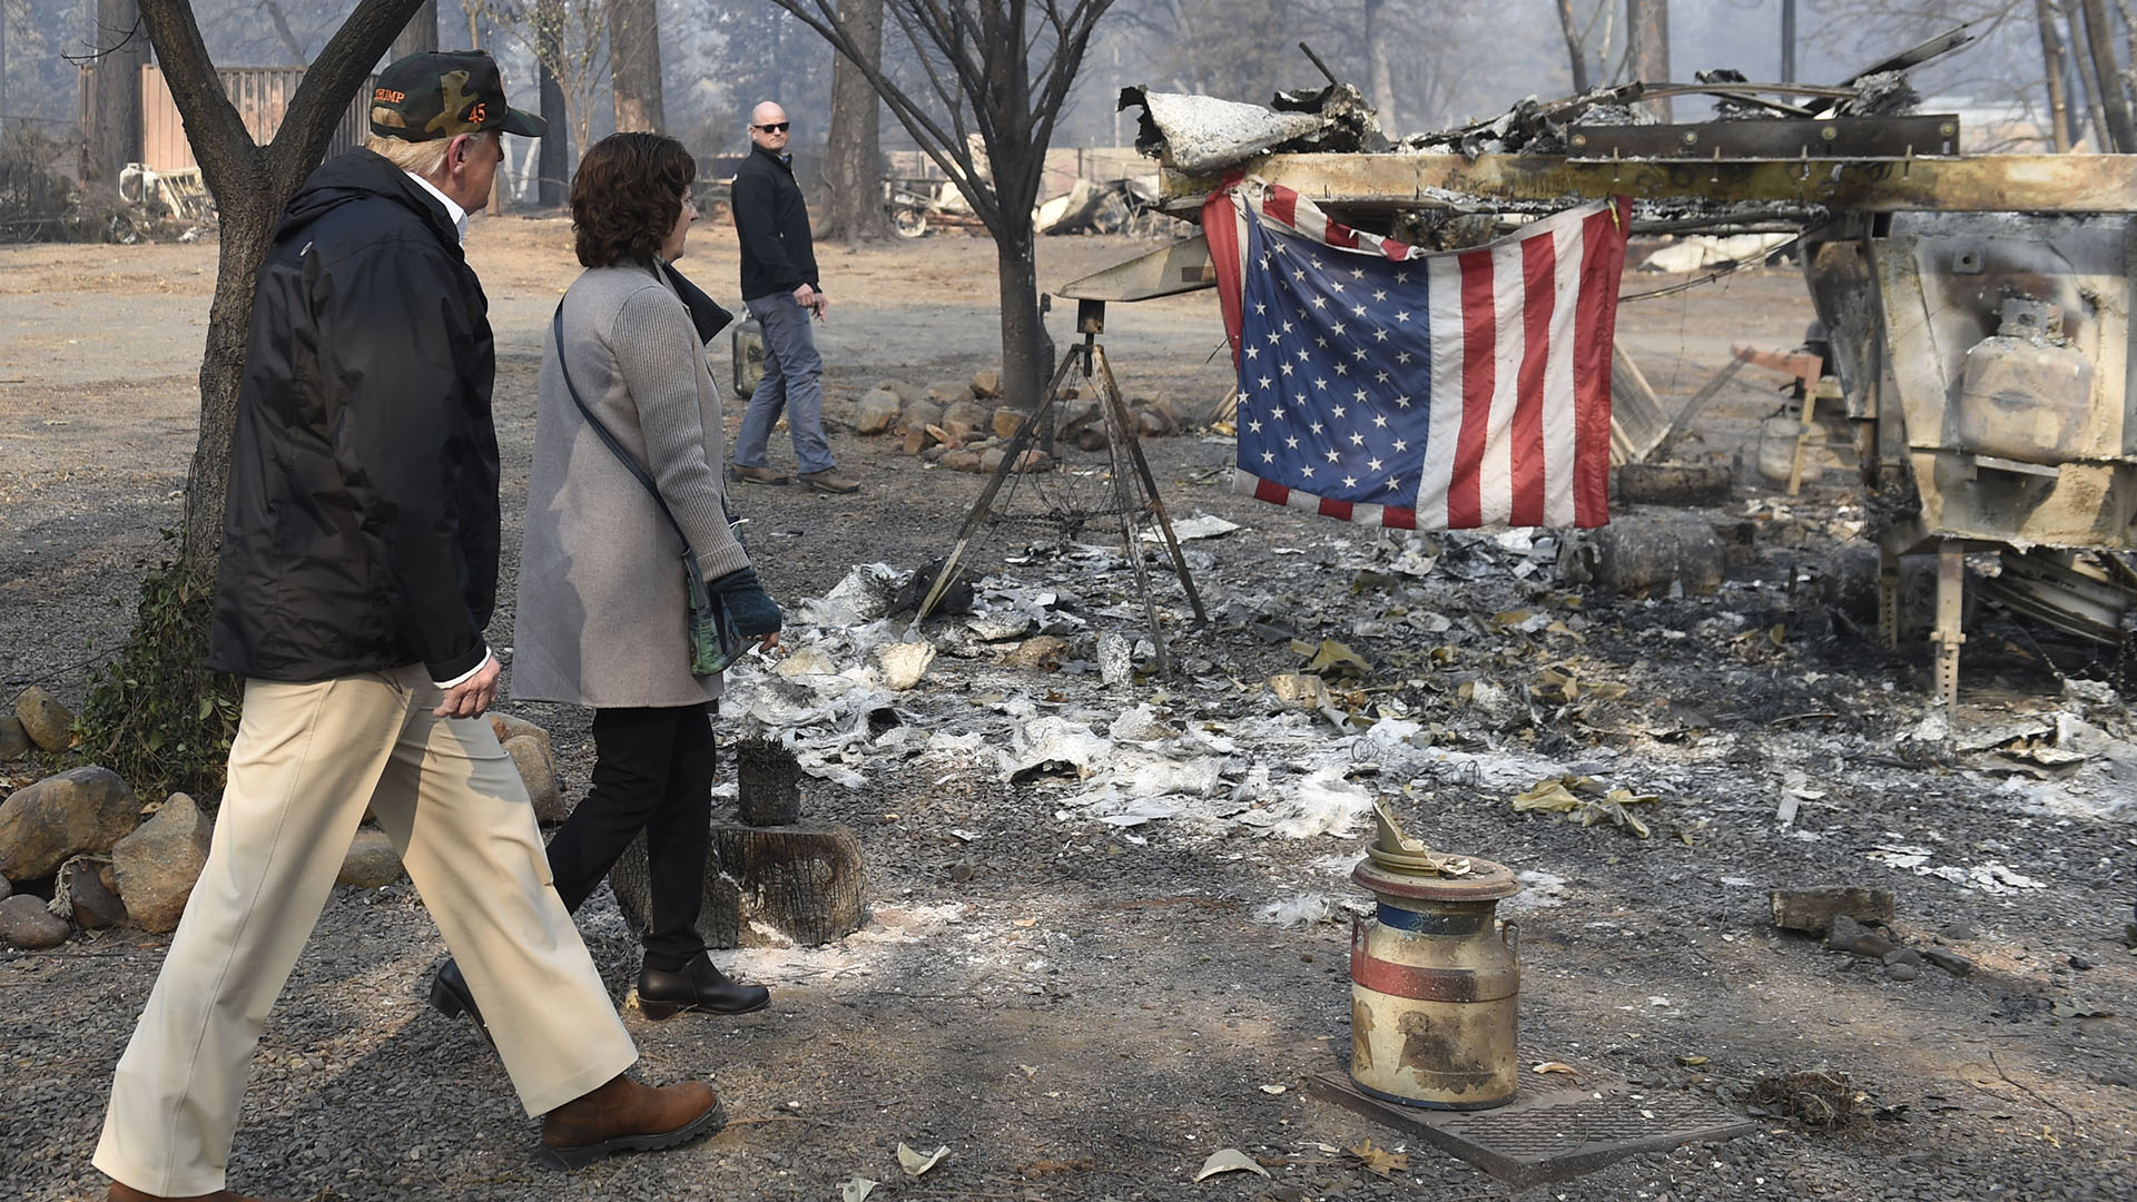
[[[844,826],[799,823],[801,770],[778,742],[737,742],[737,764],[744,821],[712,823],[705,907],[697,915],[705,945],[814,945],[859,930],[868,918],[859,836]],[[609,870],[609,888],[624,920],[643,930],[652,922],[643,832]]]

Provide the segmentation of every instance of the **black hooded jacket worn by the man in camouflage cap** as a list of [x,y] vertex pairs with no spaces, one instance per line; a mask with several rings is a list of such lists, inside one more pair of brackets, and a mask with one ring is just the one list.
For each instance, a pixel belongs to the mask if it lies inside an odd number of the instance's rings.
[[483,663],[498,590],[489,302],[368,150],[291,199],[252,291],[207,665],[325,680]]

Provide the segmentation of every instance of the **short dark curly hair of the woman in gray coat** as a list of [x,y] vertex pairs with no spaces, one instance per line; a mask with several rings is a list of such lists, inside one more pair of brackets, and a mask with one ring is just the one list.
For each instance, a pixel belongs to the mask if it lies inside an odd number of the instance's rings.
[[611,133],[579,160],[571,180],[571,227],[579,263],[613,267],[660,255],[697,163],[660,133]]

